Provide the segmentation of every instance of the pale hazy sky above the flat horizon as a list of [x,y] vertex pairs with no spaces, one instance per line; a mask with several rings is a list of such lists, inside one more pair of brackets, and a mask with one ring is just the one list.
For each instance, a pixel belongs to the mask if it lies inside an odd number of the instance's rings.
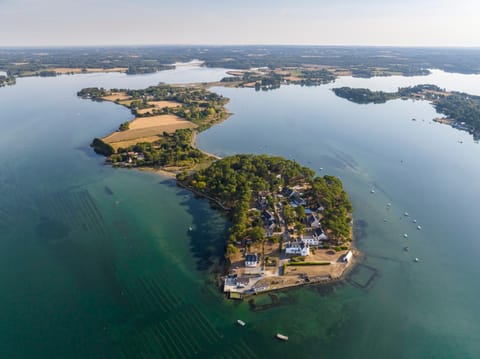
[[0,47],[480,46],[479,0],[0,0]]

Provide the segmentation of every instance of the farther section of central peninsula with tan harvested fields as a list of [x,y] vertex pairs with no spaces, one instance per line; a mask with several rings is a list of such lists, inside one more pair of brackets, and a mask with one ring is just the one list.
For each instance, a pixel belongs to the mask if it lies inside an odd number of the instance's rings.
[[151,86],[143,90],[85,88],[78,96],[113,101],[130,109],[132,121],[95,138],[95,152],[119,167],[162,168],[170,173],[208,166],[215,156],[195,148],[197,131],[229,116],[223,96],[200,87]]

